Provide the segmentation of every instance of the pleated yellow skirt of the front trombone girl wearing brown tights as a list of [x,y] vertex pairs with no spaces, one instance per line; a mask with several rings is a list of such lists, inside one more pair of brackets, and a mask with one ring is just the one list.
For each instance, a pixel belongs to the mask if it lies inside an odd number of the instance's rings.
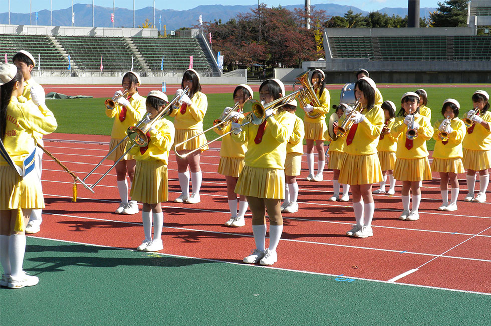
[[235,193],[257,198],[285,198],[283,169],[253,168],[245,166],[238,177]]

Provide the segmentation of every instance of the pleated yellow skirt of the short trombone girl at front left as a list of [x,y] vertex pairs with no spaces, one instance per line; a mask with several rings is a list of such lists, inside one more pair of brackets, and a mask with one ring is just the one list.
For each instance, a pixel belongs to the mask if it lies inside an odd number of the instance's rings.
[[147,204],[166,202],[169,197],[167,165],[162,161],[136,161],[131,185],[132,200]]

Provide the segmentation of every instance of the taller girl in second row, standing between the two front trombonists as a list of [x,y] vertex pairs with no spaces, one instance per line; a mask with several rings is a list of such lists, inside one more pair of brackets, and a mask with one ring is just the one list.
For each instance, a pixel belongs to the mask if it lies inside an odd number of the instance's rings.
[[[189,90],[189,95],[184,94],[184,88],[186,87]],[[175,117],[175,144],[180,144],[203,131],[203,119],[208,109],[208,99],[206,95],[201,93],[199,74],[196,70],[188,69],[184,72],[181,89],[178,89],[176,92],[176,96],[181,95],[182,104],[180,109],[174,110],[171,114],[171,116]],[[179,147],[174,148],[174,150],[176,153],[182,155],[204,144],[206,144],[206,136],[201,134],[200,136],[183,143]],[[208,146],[205,146],[201,151],[207,149]],[[176,155],[177,173],[182,191],[182,194],[174,200],[177,203],[186,202],[196,204],[201,201],[199,197],[199,190],[201,189],[201,181],[203,179],[203,174],[199,165],[201,151],[198,150],[184,158]],[[191,174],[189,174],[188,168],[191,170]],[[193,192],[191,196],[189,196],[189,178],[192,180]]]

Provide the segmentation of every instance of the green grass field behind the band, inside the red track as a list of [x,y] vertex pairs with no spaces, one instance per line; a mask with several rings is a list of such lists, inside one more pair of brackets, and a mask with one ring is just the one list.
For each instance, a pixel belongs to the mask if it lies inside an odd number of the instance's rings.
[[[384,100],[391,100],[396,105],[400,103],[401,95],[408,91],[414,91],[418,87],[394,87],[381,89]],[[329,85],[328,85],[329,89]],[[427,87],[428,106],[432,109],[432,123],[442,119],[441,105],[443,101],[449,97],[459,101],[461,105],[460,117],[472,108],[471,97],[476,89],[470,87]],[[485,89],[491,92],[491,89]],[[331,106],[338,104],[340,90],[330,90]],[[215,119],[219,118],[223,109],[227,106],[232,106],[232,94],[207,94],[208,111],[204,118],[204,128],[210,128]],[[258,95],[255,96],[258,98]],[[47,100],[48,107],[53,111],[58,121],[58,129],[60,133],[76,133],[76,134],[97,134],[110,135],[113,120],[108,118],[104,113],[104,100],[102,98],[89,99],[68,99],[68,100]],[[303,118],[304,111],[297,110],[297,115]],[[169,118],[173,120],[173,118]],[[215,132],[206,134],[208,140],[215,139]],[[434,140],[427,143],[428,149],[434,147]]]

